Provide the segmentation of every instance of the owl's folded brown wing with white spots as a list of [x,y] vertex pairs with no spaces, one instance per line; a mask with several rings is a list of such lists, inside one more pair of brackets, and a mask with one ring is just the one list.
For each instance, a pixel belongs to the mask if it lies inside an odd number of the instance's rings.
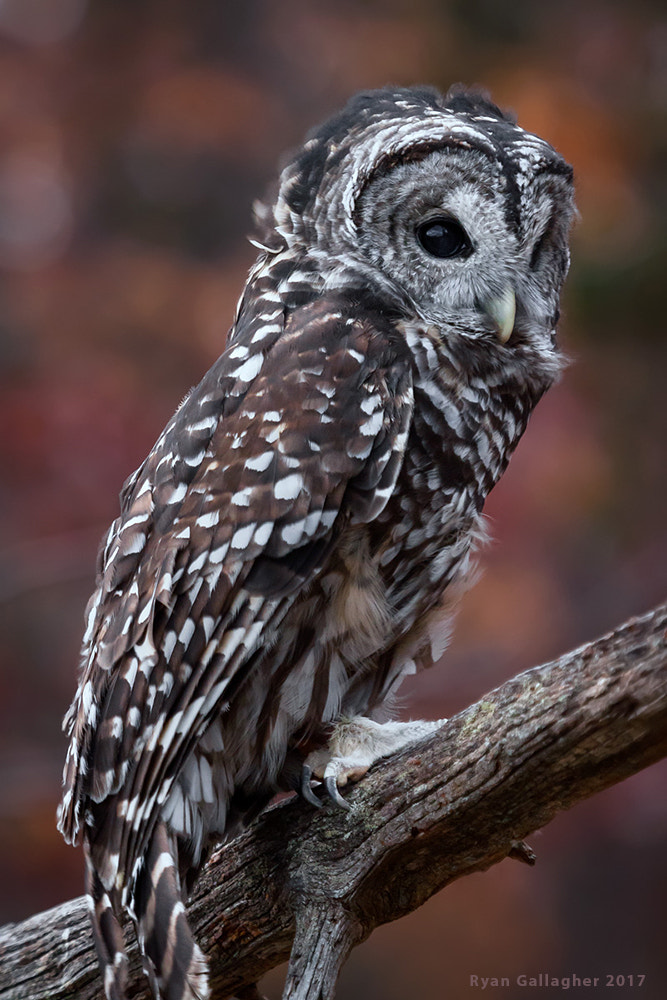
[[124,489],[69,718],[70,839],[87,797],[121,789],[141,830],[341,522],[393,491],[412,377],[386,321],[320,301],[260,347],[230,345]]

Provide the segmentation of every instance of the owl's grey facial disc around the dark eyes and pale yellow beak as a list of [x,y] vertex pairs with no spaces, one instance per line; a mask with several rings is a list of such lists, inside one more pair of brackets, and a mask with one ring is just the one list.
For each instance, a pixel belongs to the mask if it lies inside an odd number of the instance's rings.
[[[559,207],[548,170],[518,181],[509,170],[483,150],[446,146],[380,169],[358,199],[364,257],[443,336],[512,346],[520,326],[521,340],[551,337],[566,240],[562,226],[554,240],[543,234],[567,200]],[[535,197],[519,208],[528,188]]]

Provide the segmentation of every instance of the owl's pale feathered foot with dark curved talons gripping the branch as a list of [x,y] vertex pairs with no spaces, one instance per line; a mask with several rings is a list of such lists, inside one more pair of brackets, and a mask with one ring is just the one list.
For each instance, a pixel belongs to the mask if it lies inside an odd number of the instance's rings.
[[306,758],[299,792],[319,808],[322,800],[311,787],[311,780],[315,778],[322,782],[322,791],[332,802],[341,809],[349,809],[350,804],[339,788],[344,788],[349,781],[358,781],[376,760],[429,736],[446,721],[380,723],[361,715],[343,719],[335,726],[327,746]]

